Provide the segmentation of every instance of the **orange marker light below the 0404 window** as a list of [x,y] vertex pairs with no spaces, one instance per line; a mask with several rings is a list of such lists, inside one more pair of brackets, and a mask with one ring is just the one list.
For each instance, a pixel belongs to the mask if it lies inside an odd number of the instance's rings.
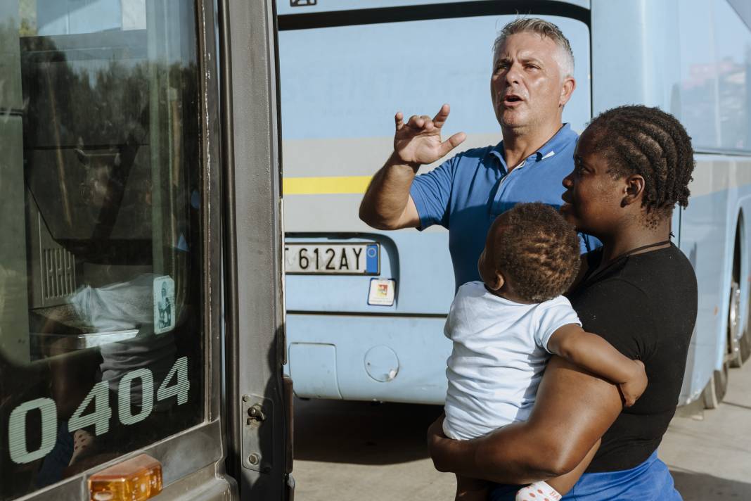
[[133,457],[89,478],[91,501],[144,501],[161,492],[161,463],[147,454]]

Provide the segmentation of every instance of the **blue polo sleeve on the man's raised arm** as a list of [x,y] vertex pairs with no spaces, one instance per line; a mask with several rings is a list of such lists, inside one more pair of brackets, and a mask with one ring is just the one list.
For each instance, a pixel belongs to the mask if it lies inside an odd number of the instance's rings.
[[[458,156],[458,155],[457,155]],[[457,156],[449,158],[433,171],[419,174],[412,181],[409,195],[415,201],[420,216],[418,230],[442,225],[448,228],[448,205],[451,199],[451,184],[454,180],[454,165]]]

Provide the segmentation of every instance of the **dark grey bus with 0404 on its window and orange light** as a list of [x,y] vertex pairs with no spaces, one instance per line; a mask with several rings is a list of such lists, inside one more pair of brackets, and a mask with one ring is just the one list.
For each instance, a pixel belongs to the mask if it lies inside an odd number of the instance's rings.
[[271,0],[0,2],[2,501],[292,499],[276,87]]

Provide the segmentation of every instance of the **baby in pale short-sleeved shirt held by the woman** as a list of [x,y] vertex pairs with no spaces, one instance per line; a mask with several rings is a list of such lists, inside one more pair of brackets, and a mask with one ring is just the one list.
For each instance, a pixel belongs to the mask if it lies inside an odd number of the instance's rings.
[[[459,288],[445,325],[446,337],[454,342],[446,369],[446,436],[474,439],[526,421],[550,354],[617,384],[626,406],[647,388],[644,364],[584,332],[561,295],[577,275],[579,241],[552,207],[517,204],[498,216],[487,232],[478,269],[483,281]],[[572,472],[519,490],[517,501],[560,499],[598,446]],[[456,499],[487,499],[486,484],[457,476]]]

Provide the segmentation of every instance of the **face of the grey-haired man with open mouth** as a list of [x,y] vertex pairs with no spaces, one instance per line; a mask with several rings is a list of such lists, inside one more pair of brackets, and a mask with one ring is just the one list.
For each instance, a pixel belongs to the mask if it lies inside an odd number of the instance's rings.
[[561,74],[560,51],[550,38],[526,32],[509,36],[496,50],[490,95],[502,127],[560,124],[575,86],[572,77]]

